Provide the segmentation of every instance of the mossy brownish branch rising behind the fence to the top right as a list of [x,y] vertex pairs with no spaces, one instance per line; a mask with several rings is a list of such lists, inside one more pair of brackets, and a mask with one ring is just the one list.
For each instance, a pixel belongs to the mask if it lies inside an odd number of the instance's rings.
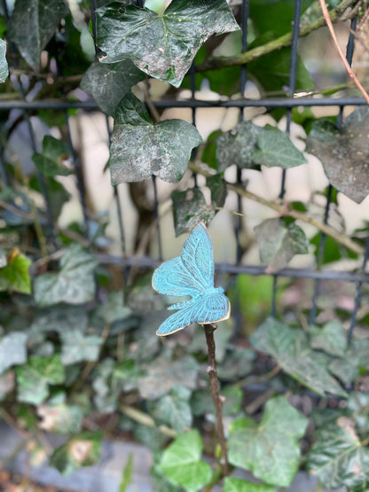
[[[352,5],[356,4],[357,0],[343,0],[341,4],[337,5],[335,9],[329,12],[329,16],[332,21],[339,20],[342,14]],[[353,12],[349,12],[345,19],[350,19],[356,15],[355,9]],[[310,24],[306,26],[300,27],[300,37],[305,35],[309,35],[312,31],[317,30],[319,27],[324,26],[326,20],[324,16],[319,17],[317,20],[313,20]],[[281,48],[285,48],[286,46],[290,46],[292,44],[292,32],[287,33],[286,35],[281,35],[277,39],[273,39],[270,43],[265,43],[262,46],[257,46],[253,50],[245,51],[238,57],[222,57],[222,58],[213,58],[208,59],[206,62],[201,63],[196,66],[196,72],[206,72],[207,70],[217,70],[219,68],[224,68],[226,66],[239,66],[245,63],[249,63],[255,59],[259,59],[272,51],[280,50]]]

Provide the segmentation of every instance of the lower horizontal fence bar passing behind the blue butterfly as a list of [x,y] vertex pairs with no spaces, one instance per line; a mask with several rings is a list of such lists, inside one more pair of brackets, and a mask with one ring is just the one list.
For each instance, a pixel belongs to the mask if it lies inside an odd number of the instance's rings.
[[[106,265],[117,265],[120,267],[135,267],[143,269],[155,269],[161,262],[153,260],[148,256],[130,256],[129,258],[122,258],[120,256],[112,256],[109,254],[96,254],[98,262]],[[231,263],[216,263],[217,271],[225,271],[238,275],[240,273],[246,273],[248,275],[267,275],[271,276],[271,272],[265,265],[232,265]],[[369,283],[369,274],[361,272],[349,272],[342,270],[313,270],[313,269],[295,269],[285,268],[280,269],[273,275],[278,277],[290,277],[290,278],[312,278],[320,280],[335,280],[342,282],[363,282]]]

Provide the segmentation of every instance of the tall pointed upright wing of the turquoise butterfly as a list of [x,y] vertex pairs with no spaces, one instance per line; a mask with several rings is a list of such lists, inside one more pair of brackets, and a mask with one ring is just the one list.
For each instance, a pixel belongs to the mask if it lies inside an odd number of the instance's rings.
[[213,246],[205,226],[200,223],[185,241],[181,253],[185,268],[201,290],[214,286]]

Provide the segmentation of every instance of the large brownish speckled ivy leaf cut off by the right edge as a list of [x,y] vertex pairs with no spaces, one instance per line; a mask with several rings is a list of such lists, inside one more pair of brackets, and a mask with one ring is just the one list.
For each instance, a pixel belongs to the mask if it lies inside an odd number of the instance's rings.
[[369,194],[369,108],[349,115],[342,132],[332,121],[314,121],[307,152],[322,162],[329,183],[360,203]]

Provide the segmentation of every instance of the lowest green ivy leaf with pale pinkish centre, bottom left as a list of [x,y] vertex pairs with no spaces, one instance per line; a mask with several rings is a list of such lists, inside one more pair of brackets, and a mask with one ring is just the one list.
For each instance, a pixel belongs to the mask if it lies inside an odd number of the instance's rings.
[[100,458],[101,431],[90,431],[74,435],[52,453],[50,465],[63,475],[74,472],[81,466],[95,465]]

